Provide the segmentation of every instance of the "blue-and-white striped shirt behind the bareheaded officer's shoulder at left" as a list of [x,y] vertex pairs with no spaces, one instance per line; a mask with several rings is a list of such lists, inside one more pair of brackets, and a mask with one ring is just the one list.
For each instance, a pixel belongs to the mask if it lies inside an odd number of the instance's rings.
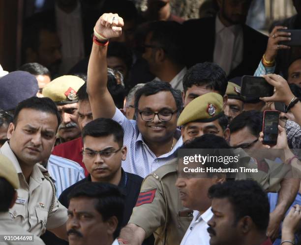
[[54,181],[58,198],[64,189],[85,178],[85,171],[77,162],[60,156],[51,154],[46,168]]

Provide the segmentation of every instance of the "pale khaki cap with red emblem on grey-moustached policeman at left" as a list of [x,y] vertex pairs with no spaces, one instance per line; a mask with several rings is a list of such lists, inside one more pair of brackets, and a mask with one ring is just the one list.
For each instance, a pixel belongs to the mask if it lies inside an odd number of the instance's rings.
[[43,96],[51,98],[56,104],[72,104],[78,101],[77,91],[85,81],[77,76],[61,76],[45,86]]

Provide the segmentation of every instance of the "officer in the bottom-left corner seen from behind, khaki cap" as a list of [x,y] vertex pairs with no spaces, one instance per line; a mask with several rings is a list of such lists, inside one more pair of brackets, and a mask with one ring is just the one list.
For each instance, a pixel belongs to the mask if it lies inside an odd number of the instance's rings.
[[15,189],[19,187],[14,165],[6,156],[0,154],[0,244],[19,245],[26,242],[29,245],[44,245],[39,237],[33,236],[10,218],[8,209],[14,205],[17,199]]

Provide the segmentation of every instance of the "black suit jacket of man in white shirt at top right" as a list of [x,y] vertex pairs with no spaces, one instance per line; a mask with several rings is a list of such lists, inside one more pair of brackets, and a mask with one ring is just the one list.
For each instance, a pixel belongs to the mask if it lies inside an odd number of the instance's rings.
[[[188,20],[183,23],[185,63],[188,67],[196,63],[213,61],[215,45],[215,17]],[[243,25],[243,58],[228,78],[253,75],[268,44],[268,37]]]

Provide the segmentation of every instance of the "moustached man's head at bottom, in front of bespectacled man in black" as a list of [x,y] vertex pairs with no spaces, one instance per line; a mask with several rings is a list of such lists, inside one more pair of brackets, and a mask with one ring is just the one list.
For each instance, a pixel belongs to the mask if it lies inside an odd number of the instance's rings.
[[86,182],[69,195],[69,245],[118,245],[124,202],[117,186]]

